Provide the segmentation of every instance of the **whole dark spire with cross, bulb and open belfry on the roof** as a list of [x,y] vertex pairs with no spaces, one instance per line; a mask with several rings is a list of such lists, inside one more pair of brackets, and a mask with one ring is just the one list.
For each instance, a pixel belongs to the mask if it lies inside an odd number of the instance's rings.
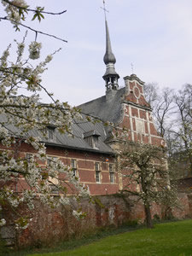
[[103,6],[102,8],[105,13],[105,26],[106,26],[106,52],[103,58],[104,63],[106,64],[106,73],[103,75],[103,79],[105,80],[106,85],[106,92],[108,91],[116,91],[119,88],[118,79],[119,74],[116,73],[114,64],[116,62],[115,56],[113,55],[112,47],[111,47],[111,41],[109,37],[109,31],[108,31],[108,20],[106,16],[106,12],[108,11],[105,8],[105,1],[103,0]]

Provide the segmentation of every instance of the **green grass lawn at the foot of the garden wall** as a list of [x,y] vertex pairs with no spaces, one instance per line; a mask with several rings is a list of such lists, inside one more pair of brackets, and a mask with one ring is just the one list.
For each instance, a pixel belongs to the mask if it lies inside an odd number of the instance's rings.
[[[39,254],[30,254],[39,256]],[[153,230],[135,230],[61,253],[43,256],[192,256],[192,220],[156,224]]]

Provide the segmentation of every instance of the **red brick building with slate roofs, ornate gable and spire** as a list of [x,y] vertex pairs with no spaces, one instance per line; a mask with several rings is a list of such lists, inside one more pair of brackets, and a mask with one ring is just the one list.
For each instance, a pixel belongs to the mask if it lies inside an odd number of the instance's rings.
[[[137,75],[126,76],[125,87],[119,89],[119,74],[114,64],[115,56],[111,48],[106,22],[106,53],[104,63],[106,72],[103,75],[106,86],[105,96],[80,105],[82,114],[89,114],[102,122],[96,124],[85,120],[73,122],[74,137],[61,135],[54,126],[48,127],[48,138],[45,140],[47,154],[59,157],[71,166],[74,175],[89,186],[91,195],[114,194],[122,189],[118,170],[118,158],[115,151],[117,139],[114,129],[105,122],[111,122],[119,130],[127,129],[125,137],[132,142],[163,145],[165,142],[154,127],[151,117],[152,109],[143,94],[143,81]],[[15,129],[15,127],[13,128]],[[37,135],[38,136],[38,135]],[[30,157],[34,153],[31,147],[21,143],[19,154]]]

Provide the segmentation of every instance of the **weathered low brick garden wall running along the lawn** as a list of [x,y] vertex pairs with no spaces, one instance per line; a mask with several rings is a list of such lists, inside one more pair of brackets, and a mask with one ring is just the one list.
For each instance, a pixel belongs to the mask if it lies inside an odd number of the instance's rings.
[[[192,218],[192,195],[179,194],[181,207],[172,210],[175,218]],[[120,226],[130,220],[144,221],[143,204],[133,202],[119,195],[103,195],[92,198],[93,202],[81,201],[78,204],[73,201],[73,207],[62,207],[56,211],[39,202],[36,203],[32,221],[26,230],[14,230],[14,216],[6,212],[7,226],[1,230],[1,236],[9,245],[27,247],[51,244],[56,241],[64,241],[71,237],[80,237],[90,234],[101,227]],[[77,220],[73,217],[73,208],[81,207],[87,215],[84,219]],[[22,209],[22,213],[30,214]],[[165,217],[164,209],[158,205],[152,207],[153,216]]]

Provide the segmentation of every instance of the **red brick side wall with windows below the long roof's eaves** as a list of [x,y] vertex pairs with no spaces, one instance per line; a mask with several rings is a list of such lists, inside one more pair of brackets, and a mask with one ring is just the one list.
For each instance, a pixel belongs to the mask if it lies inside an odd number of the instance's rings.
[[[14,150],[14,148],[10,149]],[[36,153],[34,149],[26,143],[21,143],[20,148],[17,148],[17,150],[18,157],[20,156],[22,158],[25,158],[26,154]],[[92,153],[52,146],[47,146],[47,154],[50,157],[59,157],[67,166],[71,165],[72,159],[77,160],[77,171],[80,177],[80,182],[90,187],[91,195],[106,195],[119,191],[119,180],[116,171],[114,183],[110,183],[109,180],[109,164],[113,164],[114,169],[116,169],[115,159],[112,156],[108,154]],[[95,162],[99,162],[101,166],[101,183],[96,183]],[[46,163],[39,162],[39,164],[44,166]],[[61,174],[60,177],[65,178],[63,174]],[[15,190],[20,192],[22,189],[26,188],[28,188],[28,185],[24,179],[20,178],[19,182],[15,186]]]

